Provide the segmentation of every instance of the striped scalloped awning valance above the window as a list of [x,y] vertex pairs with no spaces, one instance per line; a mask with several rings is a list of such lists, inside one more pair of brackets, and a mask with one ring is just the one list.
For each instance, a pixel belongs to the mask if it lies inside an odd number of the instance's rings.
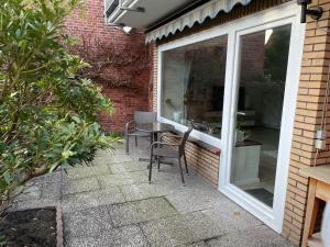
[[232,8],[241,3],[246,5],[252,0],[213,0],[210,1],[186,14],[179,16],[156,30],[146,33],[145,42],[161,40],[167,37],[170,34],[175,34],[177,31],[183,31],[185,27],[191,27],[196,22],[201,24],[207,18],[213,19],[220,11],[229,13]]

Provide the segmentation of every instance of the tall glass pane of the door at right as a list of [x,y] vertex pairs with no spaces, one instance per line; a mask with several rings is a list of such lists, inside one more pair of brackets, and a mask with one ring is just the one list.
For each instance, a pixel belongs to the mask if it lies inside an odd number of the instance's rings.
[[231,182],[273,206],[290,25],[241,37]]

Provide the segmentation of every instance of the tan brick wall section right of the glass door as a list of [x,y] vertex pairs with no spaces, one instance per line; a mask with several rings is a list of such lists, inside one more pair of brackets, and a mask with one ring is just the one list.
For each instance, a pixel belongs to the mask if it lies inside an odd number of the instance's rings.
[[[321,151],[317,158],[314,147],[316,131],[321,126],[330,59],[330,36],[329,32],[324,31],[330,24],[330,0],[314,0],[312,5],[317,4],[326,12],[318,22],[319,29],[316,29],[316,22],[310,19],[306,25],[283,227],[283,235],[295,245],[299,245],[301,240],[308,192],[308,179],[299,173],[299,169],[314,166],[315,160],[318,166],[330,161],[329,138],[327,150]],[[329,119],[327,122],[329,123]],[[327,128],[330,130],[329,124]]]

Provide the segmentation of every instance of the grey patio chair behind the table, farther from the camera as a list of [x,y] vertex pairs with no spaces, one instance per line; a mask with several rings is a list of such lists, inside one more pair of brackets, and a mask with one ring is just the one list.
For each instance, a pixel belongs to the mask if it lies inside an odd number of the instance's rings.
[[136,131],[136,124],[154,123],[157,120],[156,112],[134,112],[134,120],[125,124],[125,153],[129,154],[130,136],[135,137],[135,146],[138,147],[138,137],[150,137],[150,133]]

